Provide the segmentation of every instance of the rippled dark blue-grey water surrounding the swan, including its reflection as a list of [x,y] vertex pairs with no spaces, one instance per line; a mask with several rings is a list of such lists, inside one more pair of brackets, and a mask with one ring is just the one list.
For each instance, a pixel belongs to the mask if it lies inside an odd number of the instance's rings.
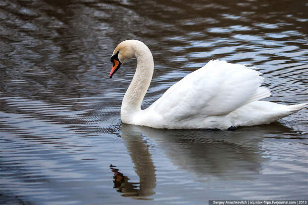
[[1,204],[308,199],[308,109],[233,132],[157,130],[121,124],[135,60],[108,78],[115,46],[139,39],[155,63],[143,108],[211,59],[260,68],[268,101],[308,102],[307,10],[304,0],[1,0]]

